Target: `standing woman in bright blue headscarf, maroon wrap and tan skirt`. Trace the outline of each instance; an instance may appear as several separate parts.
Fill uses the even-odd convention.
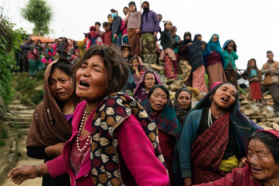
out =
[[[203,52],[203,58],[208,74],[208,87],[211,87],[212,83],[216,81],[227,81],[223,69],[224,55],[219,42],[219,35],[212,35]]]

